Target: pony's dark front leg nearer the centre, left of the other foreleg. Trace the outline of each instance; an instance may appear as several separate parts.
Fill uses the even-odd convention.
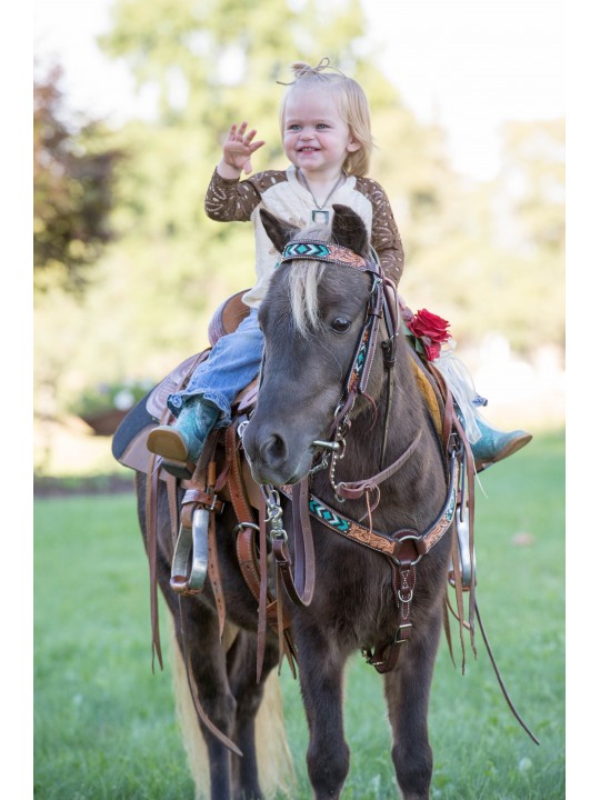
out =
[[[342,684],[347,653],[318,629],[296,636],[300,686],[309,726],[307,766],[316,800],[340,797],[350,768],[343,736]]]

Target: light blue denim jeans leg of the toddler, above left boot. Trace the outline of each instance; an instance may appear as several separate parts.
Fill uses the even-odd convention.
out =
[[[201,397],[222,412],[216,427],[230,424],[233,400],[259,373],[263,342],[258,309],[250,309],[238,329],[221,337],[208,358],[198,364],[186,390],[169,394],[169,409],[179,417],[183,406]]]

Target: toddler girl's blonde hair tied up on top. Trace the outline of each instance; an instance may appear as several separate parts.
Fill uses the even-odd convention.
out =
[[[369,101],[362,88],[352,78],[348,78],[334,67],[330,67],[328,58],[321,59],[317,67],[297,61],[290,69],[294,76],[293,80],[290,83],[278,81],[288,87],[279,108],[281,137],[284,133],[286,106],[290,94],[299,88],[327,89],[334,96],[340,116],[350,128],[350,134],[360,144],[356,152],[348,153],[343,162],[343,170],[348,174],[366,176],[369,171],[374,142],[371,133]]]

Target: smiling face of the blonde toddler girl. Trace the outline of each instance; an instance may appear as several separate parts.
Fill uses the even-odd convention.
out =
[[[307,178],[331,179],[360,148],[327,90],[297,89],[286,103],[283,149]]]

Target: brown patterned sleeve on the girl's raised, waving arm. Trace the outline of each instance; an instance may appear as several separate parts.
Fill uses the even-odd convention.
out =
[[[262,193],[282,180],[287,180],[286,173],[279,170],[257,172],[242,181],[221,178],[214,170],[204,198],[207,217],[218,222],[247,222]]]

